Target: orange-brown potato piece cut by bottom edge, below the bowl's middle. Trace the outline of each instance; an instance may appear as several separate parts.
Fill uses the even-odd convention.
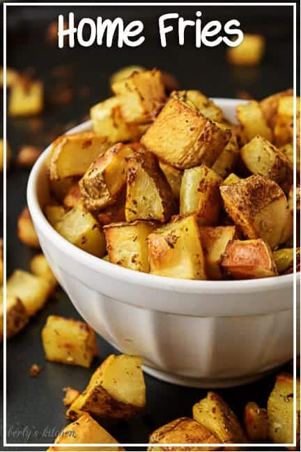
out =
[[[162,427],[157,428],[149,439],[148,451],[218,451],[219,448],[210,447],[172,447],[164,444],[218,444],[218,438],[200,423],[189,418],[179,418],[171,421]],[[152,446],[151,444],[162,444],[162,446]]]

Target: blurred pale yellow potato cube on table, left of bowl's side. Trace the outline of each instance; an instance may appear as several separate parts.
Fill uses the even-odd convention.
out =
[[[8,296],[17,296],[22,301],[30,317],[43,308],[53,289],[47,279],[23,270],[13,272],[6,288]]]

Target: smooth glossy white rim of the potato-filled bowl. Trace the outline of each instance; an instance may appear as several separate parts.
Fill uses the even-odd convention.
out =
[[[243,102],[238,99],[228,98],[215,98],[214,100],[222,108],[234,107],[238,103]],[[75,128],[68,130],[66,134],[91,130],[91,124],[92,121],[85,121]],[[54,227],[50,225],[38,202],[38,176],[45,166],[45,161],[50,152],[51,146],[52,144],[47,146],[31,169],[29,181],[27,183],[27,203],[33,223],[37,226],[37,229],[43,231],[49,241],[55,243],[56,247],[59,247],[63,253],[66,253],[77,262],[81,262],[94,271],[105,273],[111,278],[125,280],[127,283],[132,283],[134,285],[155,287],[167,291],[186,292],[191,294],[243,294],[245,292],[265,292],[270,289],[275,289],[275,287],[280,289],[293,285],[293,273],[270,278],[256,278],[252,280],[185,280],[180,278],[151,275],[149,273],[134,271],[132,269],[111,264],[100,257],[95,257],[94,255],[77,248],[77,246],[64,239],[63,236],[56,232]],[[299,272],[296,273],[296,280],[300,283]]]

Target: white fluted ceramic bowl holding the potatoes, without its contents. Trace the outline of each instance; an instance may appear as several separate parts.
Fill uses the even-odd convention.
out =
[[[238,101],[216,102],[234,121]],[[88,121],[70,132],[89,128]],[[187,386],[244,384],[291,359],[293,275],[180,280],[89,255],[63,239],[43,214],[49,197],[48,153],[49,147],[31,171],[29,210],[56,278],[100,336],[121,352],[142,356],[151,375]],[[300,287],[300,273],[297,280]]]

